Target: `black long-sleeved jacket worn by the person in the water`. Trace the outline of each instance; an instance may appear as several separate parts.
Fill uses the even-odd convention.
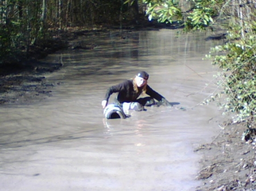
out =
[[[160,101],[164,98],[162,95],[158,94],[158,92],[154,91],[150,86],[146,85],[146,94],[153,97],[154,99]],[[133,79],[125,80],[124,82],[117,84],[116,86],[112,86],[108,89],[105,95],[104,100],[109,100],[110,95],[115,92],[118,92],[117,101],[119,103],[124,102],[133,102],[137,100],[139,95],[142,93],[142,88],[138,88],[138,92],[136,92],[133,88]]]

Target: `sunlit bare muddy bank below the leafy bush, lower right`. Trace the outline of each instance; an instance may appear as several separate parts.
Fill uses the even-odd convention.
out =
[[[196,148],[204,155],[198,176],[204,184],[197,191],[256,189],[256,139],[242,140],[246,129],[243,123],[224,122],[212,142]]]

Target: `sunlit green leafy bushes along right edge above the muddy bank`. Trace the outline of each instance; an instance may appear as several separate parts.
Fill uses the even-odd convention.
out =
[[[218,53],[213,57],[213,65],[223,70],[218,75],[222,91],[215,97],[225,97],[221,107],[224,114],[233,113],[233,122],[245,121],[250,128],[256,114],[256,15],[250,4],[232,2],[232,5],[236,6],[223,11],[229,18],[226,43],[212,48],[212,54]]]

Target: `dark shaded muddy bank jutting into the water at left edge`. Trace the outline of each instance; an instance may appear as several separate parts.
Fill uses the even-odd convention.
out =
[[[50,83],[44,76],[59,70],[63,66],[61,63],[35,61],[19,66],[5,67],[5,73],[0,77],[0,105],[26,104],[46,99],[51,96],[51,89],[61,84]]]

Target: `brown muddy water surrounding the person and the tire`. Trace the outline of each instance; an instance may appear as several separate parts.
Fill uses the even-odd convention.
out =
[[[48,56],[64,62],[46,74],[60,83],[52,97],[0,108],[1,190],[195,190],[201,156],[193,150],[216,135],[221,119],[214,104],[199,105],[216,88],[205,86],[216,69],[201,59],[214,42],[176,32],[123,32],[121,39],[112,31],[80,39],[92,50]],[[174,107],[106,120],[106,88],[139,70]]]

